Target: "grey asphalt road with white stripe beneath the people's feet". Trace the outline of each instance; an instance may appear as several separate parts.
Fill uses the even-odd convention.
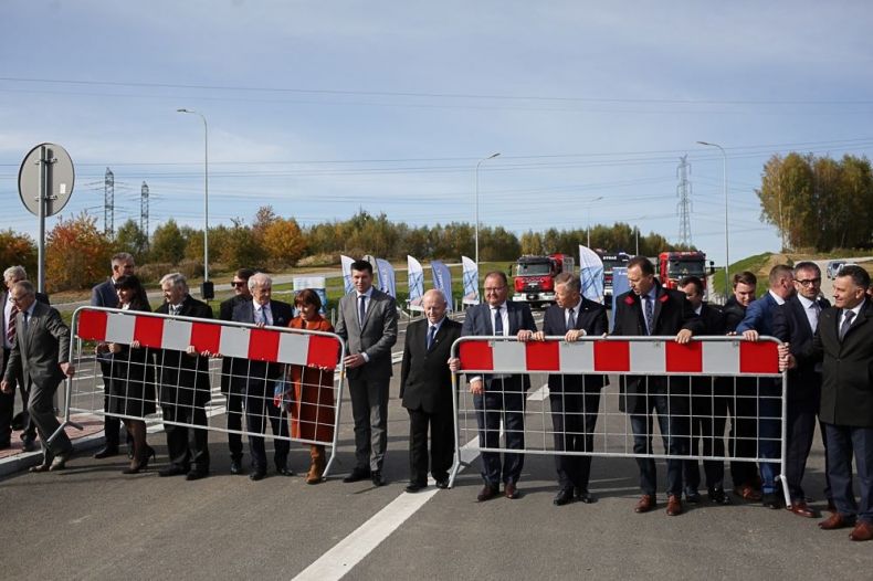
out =
[[[222,434],[210,439],[213,475],[193,483],[152,469],[125,476],[123,458],[88,455],[61,473],[9,476],[0,480],[2,577],[337,578],[307,569],[325,562],[347,579],[839,579],[870,570],[873,545],[850,542],[844,530],[820,531],[816,520],[786,510],[737,501],[690,507],[680,517],[662,508],[635,515],[632,459],[593,461],[592,505],[553,506],[554,465],[543,456],[527,458],[517,500],[477,504],[477,462],[454,489],[408,495],[407,413],[396,380],[391,390],[390,484],[381,488],[339,479],[354,464],[350,414],[335,476],[317,486],[301,477],[231,476]],[[160,466],[162,433],[149,441]],[[292,467],[304,472],[307,450],[292,451]],[[819,508],[822,469],[817,440],[804,486]],[[659,474],[663,480],[663,466]],[[401,510],[409,510],[406,520],[386,525]]]

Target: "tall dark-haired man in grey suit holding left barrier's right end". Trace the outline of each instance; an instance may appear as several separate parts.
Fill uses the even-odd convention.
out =
[[[372,266],[351,263],[355,290],[339,299],[336,332],[346,341],[344,361],[355,420],[355,469],[343,482],[371,478],[385,484],[382,462],[388,445],[388,385],[391,347],[397,342],[397,303],[372,286]]]

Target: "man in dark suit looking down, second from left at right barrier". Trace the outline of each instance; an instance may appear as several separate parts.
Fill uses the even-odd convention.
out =
[[[543,330],[534,339],[561,336],[575,342],[586,335],[599,337],[609,329],[607,308],[581,295],[581,282],[571,273],[555,277],[555,305],[543,319]],[[555,429],[555,451],[593,452],[595,426],[600,408],[600,391],[606,384],[603,376],[570,376],[551,373],[548,378],[551,424]],[[595,501],[588,490],[591,474],[591,456],[555,456],[558,471],[558,494],[553,503],[564,506],[579,499],[585,504]]]

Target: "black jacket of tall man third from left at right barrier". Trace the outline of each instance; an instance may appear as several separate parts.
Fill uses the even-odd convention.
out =
[[[645,318],[642,300],[633,292],[628,290],[616,299],[616,319],[612,335],[618,336],[645,336]],[[682,329],[688,329],[693,335],[702,335],[703,320],[694,314],[685,294],[671,290],[655,283],[655,306],[652,313],[652,336],[674,336]],[[666,392],[666,380],[663,377],[648,378],[649,394]],[[621,381],[619,409],[627,413],[645,413],[646,410],[646,378],[624,376]],[[681,410],[680,410],[681,411]]]

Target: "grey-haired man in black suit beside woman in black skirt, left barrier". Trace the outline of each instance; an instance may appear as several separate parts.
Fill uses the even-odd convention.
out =
[[[160,288],[165,303],[156,313],[212,319],[212,307],[188,294],[188,282],[180,273],[161,278]],[[161,349],[158,372],[164,431],[167,433],[167,453],[170,456],[170,465],[159,471],[158,475],[186,474],[188,480],[208,476],[209,442],[204,408],[211,398],[208,353],[198,353],[193,346],[189,346],[185,352]],[[202,427],[192,427],[194,425]]]

